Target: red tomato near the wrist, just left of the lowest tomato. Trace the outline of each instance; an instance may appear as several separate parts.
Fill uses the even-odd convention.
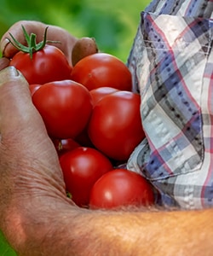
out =
[[[112,170],[111,161],[95,148],[75,148],[60,157],[66,190],[79,207],[87,207],[92,186]]]

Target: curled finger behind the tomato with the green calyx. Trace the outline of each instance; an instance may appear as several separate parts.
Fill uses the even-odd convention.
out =
[[[61,49],[66,55],[69,63],[72,63],[72,47],[78,39],[73,37],[69,32],[60,28],[59,26],[51,26],[39,21],[29,20],[20,20],[16,22],[13,26],[9,28],[9,31],[3,35],[0,43],[0,49],[3,52],[4,57],[12,58],[14,54],[18,51],[14,48],[12,44],[9,44],[9,33],[11,33],[14,38],[16,38],[21,44],[25,44],[25,39],[21,26],[25,26],[26,32],[28,32],[29,34],[32,32],[35,33],[37,35],[37,42],[43,41],[44,30],[47,26],[49,26],[47,39],[50,41],[59,41],[60,44],[52,45],[55,45],[56,47]]]

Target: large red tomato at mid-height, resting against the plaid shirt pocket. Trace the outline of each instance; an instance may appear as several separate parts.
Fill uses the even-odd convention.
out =
[[[141,96],[116,91],[97,102],[89,119],[91,142],[113,160],[127,160],[145,137],[140,114]]]

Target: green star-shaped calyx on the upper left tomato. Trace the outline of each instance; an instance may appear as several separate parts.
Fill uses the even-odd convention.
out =
[[[22,30],[23,30],[23,33],[24,33],[24,37],[26,39],[26,46],[24,44],[20,44],[20,42],[17,41],[11,33],[9,33],[9,35],[13,39],[13,41],[8,38],[9,43],[13,44],[16,49],[19,49],[22,52],[30,54],[31,59],[32,59],[32,54],[34,52],[37,52],[40,49],[43,49],[43,47],[47,43],[60,43],[59,41],[48,41],[47,40],[48,26],[45,28],[45,31],[44,31],[44,34],[43,34],[43,41],[39,42],[39,43],[36,42],[36,38],[37,38],[36,34],[34,34],[34,33],[28,34],[26,32],[26,29],[25,29],[24,26],[22,26]]]

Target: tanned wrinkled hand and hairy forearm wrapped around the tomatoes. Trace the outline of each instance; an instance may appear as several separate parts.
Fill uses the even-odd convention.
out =
[[[33,32],[44,27],[23,23]],[[21,38],[20,23],[10,32]],[[56,27],[53,35],[64,36],[61,47],[70,60],[72,36]],[[10,58],[15,50],[5,43],[6,37],[7,33],[1,49]],[[0,69],[9,65],[7,58],[0,59]],[[73,206],[26,79],[14,67],[0,72],[0,229],[17,255],[211,255],[212,213],[213,209],[89,211]]]

